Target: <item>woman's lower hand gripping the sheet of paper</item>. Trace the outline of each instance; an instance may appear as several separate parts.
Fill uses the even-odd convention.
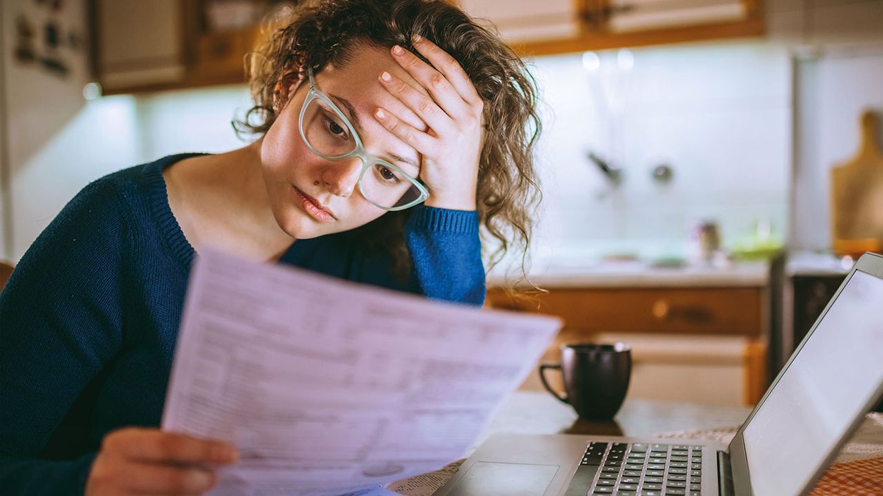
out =
[[[237,457],[222,441],[127,427],[102,440],[86,495],[202,494],[215,485],[215,467]]]

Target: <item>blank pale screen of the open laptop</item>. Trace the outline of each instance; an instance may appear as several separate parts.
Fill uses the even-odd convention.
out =
[[[754,494],[809,484],[883,381],[883,279],[854,271],[743,431]]]

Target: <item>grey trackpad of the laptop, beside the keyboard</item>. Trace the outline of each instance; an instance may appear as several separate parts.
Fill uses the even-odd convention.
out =
[[[558,465],[476,462],[449,496],[542,496]]]

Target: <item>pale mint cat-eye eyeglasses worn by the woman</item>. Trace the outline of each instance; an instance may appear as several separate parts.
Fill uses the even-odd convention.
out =
[[[310,91],[300,109],[300,136],[314,154],[329,161],[351,157],[362,160],[358,191],[370,203],[384,210],[404,210],[429,198],[426,186],[404,170],[369,154],[358,138],[350,120],[328,95],[316,88],[313,71],[306,71]]]

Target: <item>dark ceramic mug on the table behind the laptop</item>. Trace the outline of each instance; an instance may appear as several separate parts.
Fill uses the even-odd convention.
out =
[[[546,370],[562,372],[564,395],[546,380]],[[562,344],[561,364],[540,364],[540,380],[549,393],[577,410],[579,417],[610,420],[623,406],[631,378],[628,344]]]

